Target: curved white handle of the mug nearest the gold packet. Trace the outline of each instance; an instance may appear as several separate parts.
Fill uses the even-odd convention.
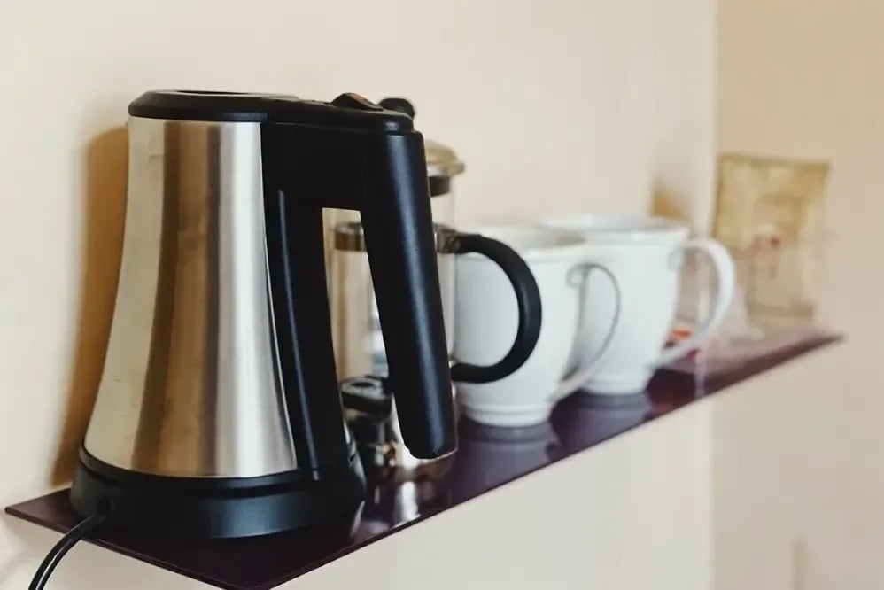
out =
[[[725,321],[727,310],[731,307],[731,302],[733,301],[733,283],[735,280],[733,258],[731,258],[731,254],[727,252],[725,246],[708,237],[698,237],[679,245],[679,248],[673,251],[672,254],[674,255],[690,251],[704,254],[715,271],[715,282],[717,286],[715,306],[712,307],[712,312],[709,314],[709,317],[707,317],[702,324],[694,330],[694,333],[690,338],[679,342],[677,345],[664,349],[663,353],[660,353],[660,357],[654,361],[654,367],[662,367],[663,365],[668,365],[672,361],[677,361],[687,353],[690,353],[702,345],[706,338],[709,338],[710,335],[718,329],[721,323]]]

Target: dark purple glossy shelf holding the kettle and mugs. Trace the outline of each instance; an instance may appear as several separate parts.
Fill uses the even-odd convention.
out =
[[[89,542],[213,586],[230,590],[272,588],[517,477],[840,339],[819,335],[712,377],[662,370],[647,392],[633,396],[610,398],[578,392],[560,402],[548,423],[530,428],[493,428],[461,419],[456,454],[409,477],[395,471],[374,474],[360,519],[343,530],[323,527],[213,541],[159,540],[108,532]],[[67,490],[16,504],[6,512],[58,532],[67,532],[79,521],[68,502]]]

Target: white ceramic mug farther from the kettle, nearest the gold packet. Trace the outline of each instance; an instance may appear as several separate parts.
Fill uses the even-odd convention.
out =
[[[589,358],[605,349],[603,358],[583,388],[597,393],[641,392],[655,369],[702,345],[725,320],[733,299],[733,259],[725,247],[708,238],[689,239],[689,229],[675,220],[643,216],[573,216],[545,221],[549,228],[577,231],[588,245],[589,260],[609,268],[622,296],[614,336],[603,342],[615,313],[615,291],[604,277],[591,276],[578,354]],[[685,252],[704,254],[715,275],[716,300],[709,316],[690,338],[664,348],[670,336],[679,298],[679,276]],[[602,334],[604,332],[602,331]]]

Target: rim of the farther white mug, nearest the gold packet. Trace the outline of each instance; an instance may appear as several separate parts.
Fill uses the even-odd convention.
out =
[[[587,242],[647,242],[690,234],[686,222],[660,215],[578,213],[547,217],[542,224],[577,232]]]

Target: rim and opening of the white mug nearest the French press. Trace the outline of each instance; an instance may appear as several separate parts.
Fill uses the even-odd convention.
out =
[[[547,234],[547,236],[555,236],[563,239],[562,244],[552,245],[525,245],[518,241],[508,239],[508,233],[532,233],[533,235]],[[479,224],[475,226],[459,229],[459,233],[478,234],[482,237],[488,237],[498,240],[508,245],[523,260],[537,262],[542,260],[562,260],[564,258],[582,257],[586,252],[586,238],[578,231],[569,229],[548,227],[537,223],[493,223]],[[501,235],[502,234],[502,235]],[[463,259],[486,260],[481,254],[469,252],[461,255]]]

